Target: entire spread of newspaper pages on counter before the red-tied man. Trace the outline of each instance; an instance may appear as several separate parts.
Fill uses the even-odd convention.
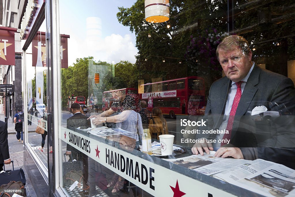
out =
[[[264,196],[295,196],[295,170],[263,159],[221,158],[214,153],[164,160]]]

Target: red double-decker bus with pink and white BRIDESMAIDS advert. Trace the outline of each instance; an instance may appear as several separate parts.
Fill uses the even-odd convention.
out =
[[[202,97],[197,101],[199,106],[205,106],[204,79],[197,76],[144,84],[144,93],[139,98],[148,103],[149,110],[158,107],[169,118],[176,118],[176,115],[189,115],[189,98],[196,91]]]

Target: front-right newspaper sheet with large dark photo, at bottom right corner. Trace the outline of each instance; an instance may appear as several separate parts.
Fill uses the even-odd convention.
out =
[[[249,161],[212,177],[264,196],[295,196],[295,170],[263,159]]]

